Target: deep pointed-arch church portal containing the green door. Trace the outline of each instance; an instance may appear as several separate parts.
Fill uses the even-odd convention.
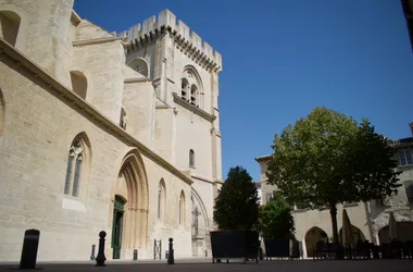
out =
[[[112,258],[132,259],[134,249],[147,249],[148,239],[148,182],[137,150],[123,159],[111,191]]]

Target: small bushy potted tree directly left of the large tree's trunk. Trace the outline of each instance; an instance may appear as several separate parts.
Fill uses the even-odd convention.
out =
[[[274,191],[274,197],[260,207],[256,230],[266,239],[293,238],[296,231],[290,205],[280,191]]]

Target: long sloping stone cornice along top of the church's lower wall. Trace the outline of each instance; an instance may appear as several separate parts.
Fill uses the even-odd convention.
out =
[[[142,154],[153,160],[154,162],[157,162],[159,165],[163,166],[164,169],[168,170],[171,173],[173,173],[175,176],[183,180],[185,183],[189,185],[193,183],[191,178],[189,178],[179,170],[177,170],[168,161],[166,161],[161,156],[159,156],[158,153],[149,149],[142,143],[138,141],[130,134],[125,132],[118,125],[116,125],[107,116],[104,116],[101,112],[99,112],[93,106],[86,102],[76,94],[67,89],[59,81],[57,81],[53,76],[51,76],[48,72],[46,72],[43,69],[38,66],[36,63],[29,60],[26,55],[20,52],[17,49],[15,49],[11,45],[9,45],[7,41],[4,41],[3,38],[0,38],[0,55],[2,54],[5,54],[7,57],[9,57],[11,61],[14,62],[16,65],[26,69],[30,73],[32,76],[41,79],[47,86],[49,86],[54,91],[57,91],[61,96],[61,97],[58,96],[59,99],[61,100],[66,99],[71,104],[78,107],[79,109],[84,111],[86,116],[90,118],[90,120],[92,120],[96,123],[99,123],[100,125],[102,125],[102,127],[108,129],[110,133],[116,135],[120,139],[123,139],[126,144],[137,147],[138,150]]]

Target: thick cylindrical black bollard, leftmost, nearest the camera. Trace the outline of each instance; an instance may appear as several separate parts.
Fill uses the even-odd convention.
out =
[[[39,247],[40,231],[27,230],[24,233],[20,269],[36,269],[37,249]]]

